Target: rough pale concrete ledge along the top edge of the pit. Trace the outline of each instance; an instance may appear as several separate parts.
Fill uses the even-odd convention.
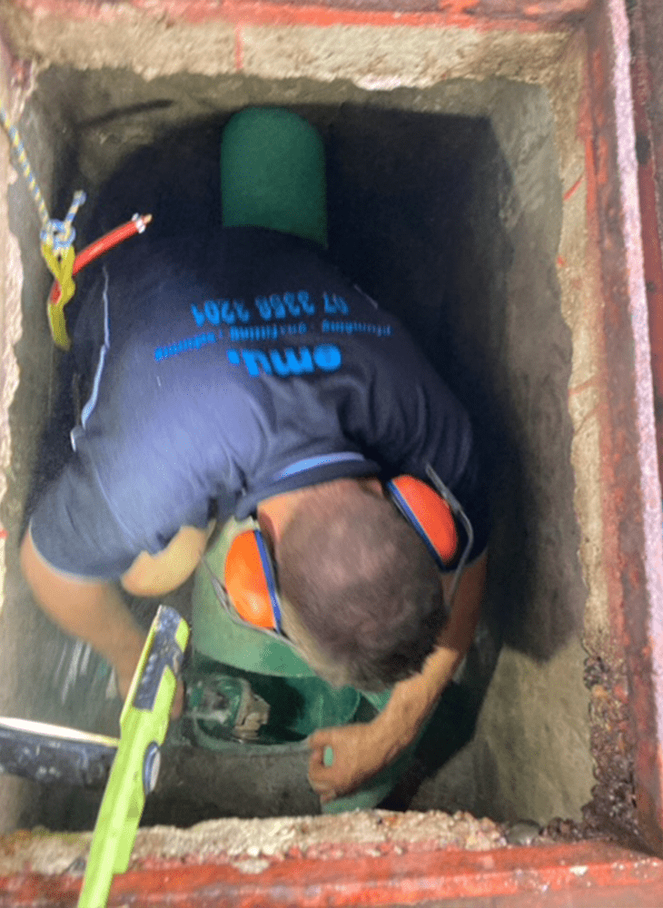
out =
[[[282,10],[237,21],[210,17],[197,24],[119,3],[104,15],[67,17],[47,7],[31,15],[11,0],[0,2],[5,41],[40,65],[79,69],[126,66],[147,79],[176,73],[219,75],[241,68],[263,78],[351,79],[369,89],[427,87],[442,79],[510,78],[539,82],[558,63],[566,31],[511,32],[433,25],[430,28],[282,22]],[[302,23],[303,20],[303,23]],[[302,23],[302,24],[300,24]]]

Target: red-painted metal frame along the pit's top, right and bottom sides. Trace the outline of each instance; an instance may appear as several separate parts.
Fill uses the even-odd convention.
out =
[[[238,0],[14,0],[38,15],[99,18],[123,6],[147,15],[242,24],[450,25],[515,28],[578,26],[588,42],[587,98],[580,128],[587,147],[588,220],[599,261],[608,400],[602,408],[602,463],[609,614],[615,652],[628,667],[629,712],[636,740],[639,817],[651,847],[663,854],[663,539],[649,367],[647,275],[657,388],[663,399],[663,264],[657,180],[663,174],[663,114],[652,118],[650,0],[633,17],[636,127],[654,153],[635,158],[624,0],[348,0],[341,6],[242,3]],[[652,3],[658,0],[651,0]],[[591,6],[591,9],[589,7]],[[354,7],[354,8],[353,8]],[[397,12],[394,12],[394,9]],[[589,9],[589,13],[588,13]],[[585,15],[587,14],[587,15]],[[638,18],[638,16],[640,16]],[[658,22],[658,20],[657,20]],[[638,31],[639,29],[639,31]],[[661,25],[663,30],[663,25]],[[651,35],[649,35],[651,37]],[[651,42],[649,42],[650,44]],[[654,45],[663,48],[663,35]],[[241,50],[241,48],[240,48]],[[649,56],[648,56],[649,54]],[[241,62],[241,54],[238,56]],[[656,119],[656,116],[659,116]],[[638,148],[642,151],[642,140]],[[660,183],[659,183],[660,184]],[[644,256],[638,212],[645,224]],[[658,218],[657,218],[658,214]],[[644,271],[643,271],[644,268]],[[660,332],[660,333],[659,333]],[[609,364],[609,365],[608,365]],[[659,431],[663,439],[663,429]],[[663,453],[663,447],[661,447]],[[663,457],[661,458],[663,463]],[[0,879],[0,905],[71,904],[80,882],[26,873]],[[110,904],[342,906],[354,904],[533,906],[663,905],[663,863],[608,844],[439,851],[271,861],[259,873],[236,864],[164,864],[135,869],[114,883]]]

